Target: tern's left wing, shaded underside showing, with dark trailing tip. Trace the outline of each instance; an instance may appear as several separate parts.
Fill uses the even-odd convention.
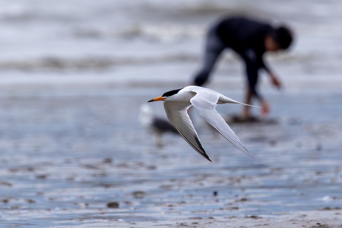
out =
[[[190,106],[191,105],[185,103],[164,102],[166,115],[172,125],[192,148],[194,148],[200,155],[211,161],[206,151],[203,149],[194,125],[187,113],[187,109]]]

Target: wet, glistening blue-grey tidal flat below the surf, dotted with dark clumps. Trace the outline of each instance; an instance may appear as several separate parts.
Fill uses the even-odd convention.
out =
[[[139,123],[167,85],[2,85],[0,227],[339,227],[342,94],[317,86],[266,89],[276,121],[231,124],[255,160],[195,116],[208,162],[177,135],[156,147]]]

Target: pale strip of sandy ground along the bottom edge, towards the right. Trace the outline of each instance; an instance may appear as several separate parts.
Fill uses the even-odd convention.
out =
[[[267,217],[267,216],[266,216]],[[301,211],[290,215],[281,215],[276,218],[264,218],[261,216],[246,216],[245,218],[215,218],[209,217],[202,219],[201,217],[190,217],[187,219],[176,219],[171,221],[153,221],[153,222],[122,222],[122,221],[106,221],[99,223],[89,223],[81,226],[70,226],[77,228],[91,227],[199,227],[199,228],[338,228],[342,227],[342,211],[341,209],[325,209],[320,211]]]

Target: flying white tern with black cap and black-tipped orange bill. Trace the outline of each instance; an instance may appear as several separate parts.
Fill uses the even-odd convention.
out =
[[[228,139],[229,142],[246,155],[254,158],[215,109],[217,104],[247,104],[237,102],[213,90],[194,85],[166,92],[162,96],[149,100],[148,102],[158,100],[164,101],[164,108],[168,119],[182,135],[185,141],[209,161],[211,160],[203,149],[194,125],[187,113],[187,109],[192,105],[197,109],[201,117],[212,125],[221,135],[223,135],[223,137]]]

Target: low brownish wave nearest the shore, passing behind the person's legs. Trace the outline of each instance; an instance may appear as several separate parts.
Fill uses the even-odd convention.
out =
[[[228,53],[227,53],[228,54]],[[222,56],[222,62],[226,64],[236,63],[237,55],[230,53]],[[320,61],[318,53],[284,53],[282,55],[270,55],[272,62],[282,64],[314,64]],[[199,62],[202,59],[201,54],[179,53],[166,54],[146,57],[118,57],[118,56],[89,56],[84,58],[67,58],[57,56],[47,56],[33,59],[18,59],[11,61],[0,61],[0,69],[20,69],[20,70],[90,70],[107,69],[110,67],[120,67],[126,65],[148,65],[168,62]]]

